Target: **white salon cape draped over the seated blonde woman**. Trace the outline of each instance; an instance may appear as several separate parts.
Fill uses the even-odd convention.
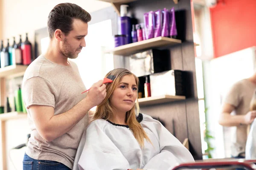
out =
[[[144,139],[142,148],[128,126],[98,119],[87,127],[73,170],[172,170],[179,163],[194,162],[189,150],[159,121],[141,113],[137,120],[153,145]]]

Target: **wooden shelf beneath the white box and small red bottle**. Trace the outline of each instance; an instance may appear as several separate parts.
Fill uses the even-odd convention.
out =
[[[185,96],[163,95],[163,96],[140,98],[140,99],[138,99],[138,101],[139,101],[140,106],[146,106],[146,105],[167,103],[167,102],[173,102],[173,101],[184,100],[184,99],[186,99]]]

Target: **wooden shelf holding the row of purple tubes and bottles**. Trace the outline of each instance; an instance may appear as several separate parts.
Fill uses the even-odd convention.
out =
[[[131,44],[122,45],[111,50],[105,51],[106,53],[112,53],[114,55],[129,55],[136,51],[144,50],[147,48],[161,47],[165,45],[180,44],[181,40],[168,38],[168,37],[156,37],[148,40],[134,42]]]

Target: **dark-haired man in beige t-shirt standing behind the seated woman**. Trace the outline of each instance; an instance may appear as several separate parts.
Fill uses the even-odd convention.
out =
[[[90,20],[87,11],[72,3],[58,4],[49,13],[49,48],[29,65],[22,84],[31,128],[23,170],[72,169],[88,111],[106,96],[102,80],[81,94],[85,87],[78,68],[68,60],[85,47]]]

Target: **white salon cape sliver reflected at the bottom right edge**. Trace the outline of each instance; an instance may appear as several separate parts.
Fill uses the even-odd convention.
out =
[[[250,133],[247,136],[245,159],[256,159],[256,119],[251,124]]]

